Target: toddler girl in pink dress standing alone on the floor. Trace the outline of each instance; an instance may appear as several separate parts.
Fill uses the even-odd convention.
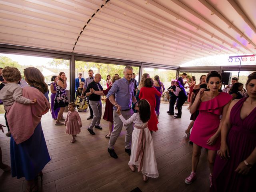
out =
[[[74,143],[76,141],[76,134],[80,133],[80,127],[82,127],[82,121],[80,118],[80,115],[75,110],[76,104],[70,103],[68,104],[68,115],[65,120],[64,125],[66,127],[66,133],[69,135],[72,135],[73,139],[71,143]]]

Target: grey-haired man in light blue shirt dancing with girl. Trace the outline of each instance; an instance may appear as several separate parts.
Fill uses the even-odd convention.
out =
[[[122,116],[127,120],[133,114],[132,102],[137,104],[137,100],[134,96],[134,83],[131,81],[133,69],[131,66],[126,66],[124,68],[124,78],[117,80],[112,85],[112,88],[107,94],[107,98],[114,105],[113,118],[114,118],[114,130],[111,133],[110,140],[108,143],[108,152],[111,157],[118,158],[116,152],[114,151],[114,144],[122,131],[123,122],[116,113],[116,109],[120,108]],[[115,96],[115,97],[114,97]],[[132,141],[132,131],[133,123],[125,125],[126,135],[125,135],[125,152],[131,155],[131,141]]]

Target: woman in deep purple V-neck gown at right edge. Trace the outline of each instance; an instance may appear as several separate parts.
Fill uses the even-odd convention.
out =
[[[221,127],[221,146],[211,192],[252,192],[256,181],[256,72],[246,82],[248,98],[234,100]]]

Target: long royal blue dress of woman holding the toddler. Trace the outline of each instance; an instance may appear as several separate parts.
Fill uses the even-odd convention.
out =
[[[44,94],[47,98],[48,94]],[[51,160],[41,122],[36,126],[34,134],[26,141],[16,144],[11,135],[10,155],[12,177],[33,180]]]

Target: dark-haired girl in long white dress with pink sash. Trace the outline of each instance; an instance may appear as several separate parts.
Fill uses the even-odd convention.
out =
[[[134,166],[136,166],[138,168],[138,172],[142,172],[143,180],[147,181],[148,177],[159,177],[153,140],[148,129],[150,104],[147,100],[141,99],[138,102],[136,110],[138,110],[138,113],[134,113],[128,120],[124,119],[120,108],[118,108],[116,112],[125,125],[134,122],[134,130],[132,132],[132,149],[128,164],[133,172],[135,171]]]

